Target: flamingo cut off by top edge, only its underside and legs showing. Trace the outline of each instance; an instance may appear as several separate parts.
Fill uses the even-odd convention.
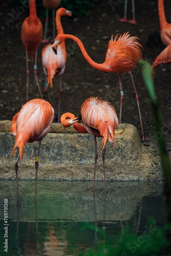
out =
[[[55,9],[60,5],[61,0],[42,0],[43,5],[46,8],[46,22],[45,22],[45,31],[44,31],[44,39],[42,42],[48,42],[47,39],[47,29],[48,29],[48,9],[52,9],[52,24],[53,24],[53,38],[51,41],[54,41],[55,38]]]

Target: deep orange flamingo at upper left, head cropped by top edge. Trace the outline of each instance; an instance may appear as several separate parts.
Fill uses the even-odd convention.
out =
[[[36,1],[30,0],[30,14],[29,17],[25,18],[22,24],[22,42],[26,49],[26,73],[27,73],[27,85],[26,85],[26,101],[28,101],[28,90],[29,90],[29,66],[28,66],[28,55],[31,53],[33,61],[33,51],[35,49],[35,62],[34,62],[34,76],[36,79],[37,87],[42,97],[40,86],[37,79],[37,50],[42,39],[42,24],[36,13]]]

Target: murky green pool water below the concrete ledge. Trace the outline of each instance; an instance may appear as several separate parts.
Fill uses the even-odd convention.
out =
[[[35,203],[35,182],[19,180],[17,207],[16,182],[0,181],[0,255],[82,255],[88,248],[115,244],[127,225],[142,238],[144,232],[153,235],[149,217],[158,227],[165,224],[162,183],[108,182],[106,195],[103,182],[96,182],[95,195],[92,185],[38,180]],[[5,236],[8,252],[3,248]]]

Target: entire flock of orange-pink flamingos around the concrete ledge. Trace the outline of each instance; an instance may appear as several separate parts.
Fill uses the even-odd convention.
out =
[[[57,118],[58,122],[64,127],[74,126],[75,130],[80,133],[89,133],[94,136],[95,143],[95,164],[94,164],[94,178],[93,178],[93,191],[95,190],[95,175],[96,175],[96,164],[98,158],[97,141],[96,138],[102,138],[100,149],[102,150],[102,161],[103,161],[103,172],[104,172],[104,187],[106,191],[106,178],[105,178],[105,144],[110,141],[115,147],[115,129],[119,128],[122,117],[122,104],[123,104],[123,86],[121,81],[121,73],[128,73],[131,76],[132,84],[135,90],[136,101],[138,105],[139,119],[141,125],[142,136],[141,141],[148,141],[148,138],[144,135],[142,116],[139,106],[139,96],[133,79],[132,71],[137,65],[138,61],[142,59],[142,45],[140,44],[140,38],[132,36],[129,32],[125,32],[121,35],[111,36],[106,51],[105,59],[102,63],[95,62],[87,53],[83,42],[72,34],[64,34],[61,25],[61,16],[71,16],[72,12],[66,8],[58,8],[62,1],[43,1],[46,8],[53,10],[53,44],[48,44],[42,49],[41,59],[42,67],[47,76],[44,92],[48,97],[46,101],[41,93],[39,82],[37,79],[37,54],[38,48],[41,42],[48,42],[47,40],[47,26],[48,26],[48,9],[46,10],[46,25],[44,32],[44,39],[42,39],[43,29],[40,19],[36,13],[36,1],[30,0],[30,14],[22,25],[22,42],[26,49],[26,103],[22,109],[16,113],[12,119],[11,134],[15,136],[15,144],[12,152],[12,156],[19,148],[19,154],[15,162],[15,173],[17,182],[17,204],[19,205],[19,192],[18,192],[18,161],[22,161],[25,144],[33,143],[38,141],[38,150],[35,160],[35,171],[36,171],[36,187],[35,187],[35,198],[37,188],[37,171],[40,154],[40,145],[42,139],[49,133],[51,124],[54,118]],[[125,12],[124,18],[120,19],[120,22],[126,22],[126,5],[125,1]],[[133,5],[133,19],[130,21],[132,24],[136,24],[135,21],[135,6]],[[56,16],[54,15],[54,9],[57,9]],[[171,24],[166,22],[164,14],[164,0],[158,0],[159,19],[160,19],[160,33],[163,44],[166,48],[156,57],[152,68],[156,68],[160,63],[171,62]],[[57,35],[55,37],[55,26]],[[75,116],[72,113],[64,113],[60,116],[60,102],[61,102],[61,75],[65,72],[67,52],[65,40],[72,39],[76,42],[81,50],[81,53],[89,63],[89,65],[97,70],[107,73],[117,73],[119,78],[120,86],[120,112],[119,119],[117,117],[114,106],[109,101],[101,100],[97,96],[90,96],[86,99],[80,110],[80,115]],[[34,75],[39,90],[40,98],[32,99],[28,101],[29,92],[29,68],[28,68],[28,56],[31,54],[33,60],[33,51],[35,50],[35,61],[34,61]],[[73,65],[74,69],[74,65]],[[53,87],[52,80],[55,76],[59,78],[59,102],[58,112],[55,110],[55,103],[52,102],[48,94],[48,87]],[[73,78],[74,79],[74,78]],[[81,122],[81,124],[79,123]]]

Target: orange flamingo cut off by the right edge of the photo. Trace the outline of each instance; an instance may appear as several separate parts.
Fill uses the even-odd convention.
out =
[[[156,68],[161,63],[171,62],[171,24],[167,23],[164,12],[164,0],[158,0],[158,13],[160,22],[160,36],[166,48],[156,57],[152,68]]]

